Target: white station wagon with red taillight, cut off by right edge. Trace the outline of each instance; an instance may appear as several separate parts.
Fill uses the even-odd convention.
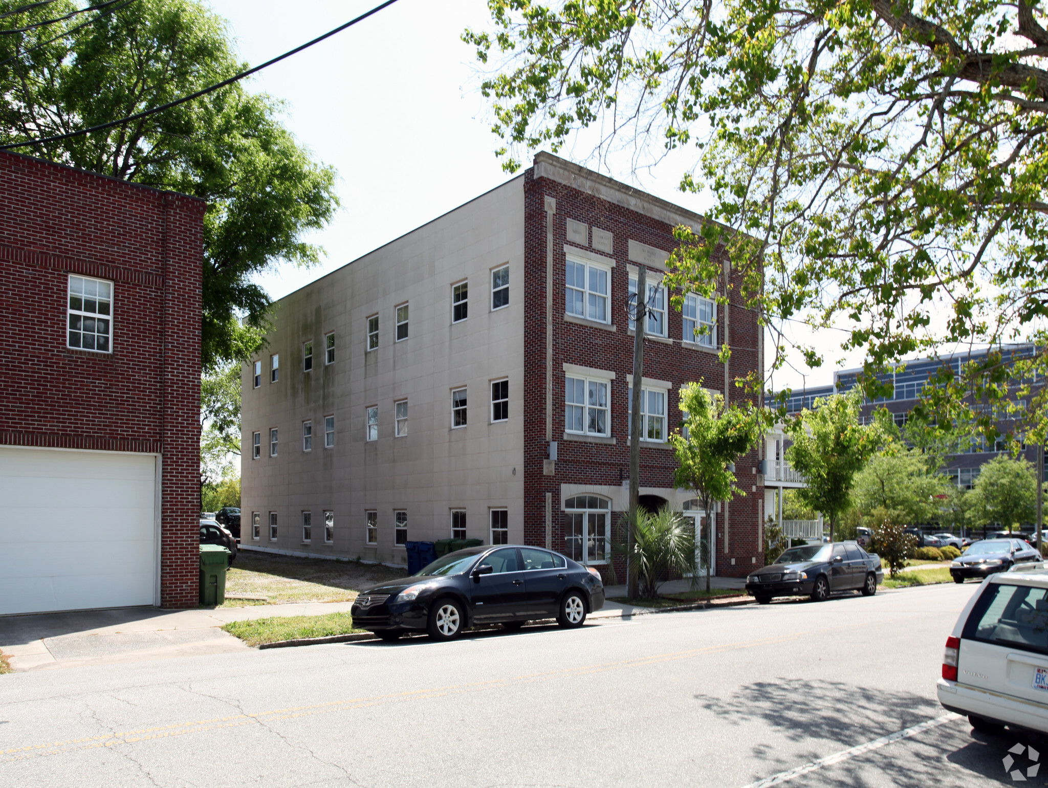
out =
[[[939,702],[967,715],[977,730],[1017,725],[1048,732],[1048,571],[1043,566],[987,577],[946,638]]]

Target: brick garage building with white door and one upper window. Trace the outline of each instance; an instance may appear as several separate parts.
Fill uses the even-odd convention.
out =
[[[0,613],[197,604],[202,201],[0,152]]]

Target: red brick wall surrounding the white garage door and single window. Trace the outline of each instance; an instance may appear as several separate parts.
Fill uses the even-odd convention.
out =
[[[205,205],[0,152],[0,444],[162,457],[163,607],[198,591]],[[69,273],[113,282],[112,352],[66,347]]]

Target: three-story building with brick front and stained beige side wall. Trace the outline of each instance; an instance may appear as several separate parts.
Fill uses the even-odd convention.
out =
[[[757,315],[660,285],[673,227],[702,217],[555,156],[278,302],[243,370],[248,548],[405,563],[403,542],[548,545],[607,564],[628,508],[633,330],[647,267],[641,503],[700,522],[667,441],[683,384],[741,391]],[[697,337],[705,323],[712,333]],[[732,346],[729,370],[717,356]],[[717,518],[718,574],[760,565],[763,445]]]

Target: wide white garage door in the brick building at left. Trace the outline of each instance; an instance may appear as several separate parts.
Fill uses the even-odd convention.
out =
[[[156,458],[0,446],[0,614],[153,605]]]

